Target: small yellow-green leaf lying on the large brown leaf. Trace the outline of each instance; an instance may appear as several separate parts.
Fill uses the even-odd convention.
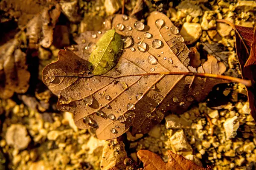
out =
[[[89,66],[94,75],[102,75],[113,68],[122,54],[121,35],[115,29],[108,30],[97,42],[96,49],[90,54]]]

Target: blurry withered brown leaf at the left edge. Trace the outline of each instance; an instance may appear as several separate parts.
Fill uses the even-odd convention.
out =
[[[29,88],[26,54],[18,48],[19,41],[11,40],[0,46],[0,98],[10,98],[15,92],[25,93]]]

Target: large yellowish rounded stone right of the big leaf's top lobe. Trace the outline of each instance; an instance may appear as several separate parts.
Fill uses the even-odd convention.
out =
[[[186,44],[192,44],[202,35],[202,28],[198,23],[184,23],[180,35],[184,38]]]

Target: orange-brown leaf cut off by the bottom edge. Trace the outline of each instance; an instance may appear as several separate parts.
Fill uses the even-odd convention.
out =
[[[199,167],[194,162],[170,150],[168,151],[169,160],[167,163],[149,150],[139,150],[137,156],[143,161],[144,170],[211,170],[210,167]]]

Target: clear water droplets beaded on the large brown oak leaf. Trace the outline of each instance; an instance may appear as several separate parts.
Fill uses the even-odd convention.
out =
[[[128,16],[127,15],[122,15],[122,19],[123,20],[128,20]],[[103,22],[103,24],[105,24],[105,22]],[[158,19],[158,20],[155,21],[155,25],[160,30],[165,25],[165,21],[163,19]],[[116,28],[119,31],[123,31],[125,29],[125,26],[122,23],[119,23],[119,24],[116,25]],[[134,29],[136,29],[137,31],[143,31],[144,28],[145,28],[145,25],[141,21],[137,20],[134,23]],[[168,26],[165,26],[164,28],[166,30],[169,29]],[[126,29],[128,31],[131,31],[133,28],[131,26],[127,26]],[[178,29],[175,26],[170,28],[170,31],[173,34],[178,34],[179,33]],[[128,32],[126,32],[126,33],[128,34]],[[102,32],[98,31],[98,34],[102,34]],[[170,36],[170,34],[168,34],[168,35]],[[152,34],[150,34],[149,32],[144,33],[144,38],[150,39],[151,37],[152,37]],[[92,34],[92,38],[97,38],[97,34]],[[183,42],[184,39],[182,37],[180,37],[180,38],[181,38],[181,41]],[[137,39],[140,40],[140,37],[137,37]],[[132,40],[132,38],[130,36],[124,37],[122,40],[123,40],[124,48],[129,48],[130,47],[131,51],[136,51],[136,49],[134,47],[131,47],[131,45],[133,45],[134,41]],[[174,40],[171,40],[171,41],[174,42]],[[149,46],[149,47],[151,47],[151,46]],[[163,47],[163,42],[161,40],[154,39],[152,41],[152,47],[153,48],[161,48],[161,47]],[[147,48],[147,44],[143,41],[140,41],[140,42],[138,42],[137,48],[138,48],[139,51],[145,52],[146,48]],[[161,52],[161,54],[163,54],[163,51]],[[160,54],[158,54],[157,57],[160,57]],[[167,58],[163,57],[163,59],[166,60]],[[148,63],[149,64],[156,65],[157,61],[158,61],[158,59],[156,57],[154,57],[153,55],[148,56]],[[167,61],[169,62],[169,64],[173,63],[172,58],[168,58]],[[157,67],[155,67],[155,68],[157,68]],[[155,70],[154,68],[150,69],[151,72],[153,72],[154,70]],[[136,94],[136,99],[139,100],[139,99],[142,98],[142,96],[143,96],[143,94]],[[111,100],[111,97],[109,95],[106,95],[105,99]],[[131,99],[131,97],[129,97],[129,99]],[[174,102],[178,101],[177,97],[175,97],[173,100],[174,100]],[[184,105],[184,102],[180,102],[180,106],[183,106],[183,105]],[[105,108],[108,108],[108,107],[109,107],[108,104],[105,105]],[[132,104],[130,102],[127,104],[126,108],[127,108],[127,110],[135,109],[134,104]],[[118,111],[116,111],[116,112],[118,113]],[[108,119],[111,119],[111,120],[117,120],[119,122],[125,122],[126,121],[126,117],[124,115],[119,116],[116,119],[116,117],[112,113],[109,114],[108,116],[106,116],[106,114],[104,112],[102,112],[101,110],[96,111],[96,115],[104,117],[104,118],[108,118]],[[89,117],[84,117],[84,123],[86,123],[88,125],[93,125],[93,122]],[[117,125],[115,127],[119,128],[119,126],[117,126]],[[111,128],[110,131],[111,131],[111,133],[117,133],[117,130],[115,128]]]

